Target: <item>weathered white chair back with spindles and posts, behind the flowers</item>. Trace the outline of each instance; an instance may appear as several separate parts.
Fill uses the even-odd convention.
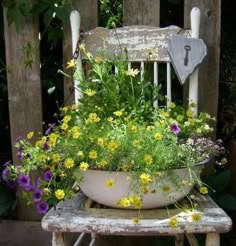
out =
[[[197,10],[198,11],[198,10]],[[80,43],[84,43],[86,50],[90,52],[94,57],[98,55],[99,50],[102,50],[104,55],[119,55],[124,50],[127,50],[129,67],[132,67],[132,63],[140,63],[140,76],[142,78],[144,74],[145,62],[147,60],[153,64],[153,83],[158,85],[159,75],[158,67],[160,63],[166,64],[166,97],[167,103],[172,100],[171,89],[171,59],[168,53],[168,42],[174,35],[182,35],[190,38],[198,37],[199,18],[196,19],[195,31],[182,30],[176,26],[169,26],[167,28],[157,28],[152,26],[126,26],[122,28],[106,29],[95,28],[80,36],[80,17],[77,11],[73,11],[71,14],[71,27],[72,27],[72,47],[73,53],[76,51],[78,40]],[[193,26],[193,25],[192,25]],[[197,34],[196,34],[197,32]],[[104,48],[105,47],[105,48]],[[185,54],[185,59],[188,54]],[[81,56],[78,57],[78,69],[82,69]],[[196,77],[196,76],[195,76]],[[189,99],[198,103],[197,99],[197,78],[194,79],[194,88],[191,89]],[[191,95],[192,94],[192,95]],[[80,95],[75,95],[77,101]],[[155,106],[158,105],[158,101],[155,102]]]

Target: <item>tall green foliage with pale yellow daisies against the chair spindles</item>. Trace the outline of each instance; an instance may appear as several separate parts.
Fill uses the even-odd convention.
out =
[[[89,83],[86,75],[76,74],[80,81],[78,89],[85,94],[98,92],[92,97],[81,98],[81,107],[86,107],[83,110],[87,111],[96,105],[103,110],[93,110],[102,117],[108,117],[116,110],[124,110],[137,116],[142,115],[147,120],[152,115],[153,102],[158,99],[160,89],[152,84],[148,73],[141,78],[138,69],[127,69],[128,54],[125,52],[120,57],[105,59],[102,52],[98,57],[93,57],[83,45],[80,48],[91,70]]]

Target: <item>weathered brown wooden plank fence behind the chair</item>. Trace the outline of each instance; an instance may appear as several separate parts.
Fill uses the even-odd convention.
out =
[[[124,25],[144,24],[159,26],[164,0],[124,0]],[[190,28],[190,11],[192,7],[201,10],[200,38],[208,48],[208,55],[199,69],[199,110],[204,110],[217,116],[219,56],[220,56],[220,15],[221,0],[185,0],[183,1],[184,28]],[[81,26],[84,31],[98,25],[97,0],[74,1],[74,8],[81,14]],[[26,68],[23,62],[22,47],[31,42],[33,47],[39,47],[38,19],[36,16],[23,20],[20,33],[14,26],[8,26],[4,13],[4,34],[6,46],[6,62],[8,67],[8,97],[10,133],[13,157],[15,156],[14,142],[17,136],[26,136],[29,131],[42,131],[42,100],[40,85],[40,54],[34,49],[34,63],[32,68]],[[172,23],[175,24],[175,23]],[[71,33],[70,27],[64,27],[63,59],[70,60]],[[187,87],[187,85],[185,86]],[[64,97],[67,98],[71,90],[71,81],[64,81]],[[186,90],[186,88],[184,88]],[[0,130],[1,131],[1,130]],[[14,158],[16,162],[16,159]],[[19,218],[34,220],[34,213],[25,209],[25,204],[19,204]]]

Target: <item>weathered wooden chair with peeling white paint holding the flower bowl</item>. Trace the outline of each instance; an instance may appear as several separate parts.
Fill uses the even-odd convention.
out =
[[[86,44],[86,49],[94,56],[99,49],[106,45],[106,53],[119,54],[121,49],[127,49],[129,57],[129,67],[133,63],[139,63],[141,76],[144,72],[144,64],[149,56],[153,64],[153,83],[159,83],[159,67],[164,64],[166,67],[166,95],[167,103],[172,101],[172,75],[171,62],[168,52],[168,43],[170,39],[180,34],[183,37],[198,38],[199,32],[199,10],[192,10],[192,30],[181,30],[176,26],[167,28],[157,28],[150,26],[126,26],[117,29],[96,28],[80,36],[80,17],[78,12],[73,11],[71,14],[72,25],[72,47],[73,54],[78,52],[77,44]],[[185,50],[183,50],[185,52]],[[188,54],[180,57],[180,62],[184,62]],[[182,59],[182,60],[181,60]],[[191,59],[190,59],[191,60]],[[174,66],[176,64],[173,64]],[[82,69],[82,57],[78,55],[77,69]],[[78,83],[75,81],[75,84]],[[75,102],[81,97],[80,93],[75,90]],[[198,104],[198,70],[190,76],[189,100]],[[158,106],[158,101],[155,102]],[[197,110],[195,111],[197,114]],[[91,233],[92,240],[90,246],[95,244],[98,234],[113,235],[173,235],[176,237],[175,245],[183,245],[183,235],[186,235],[191,245],[197,245],[193,233],[206,233],[206,245],[220,245],[220,233],[230,230],[231,220],[226,213],[220,209],[209,197],[202,197],[195,194],[198,200],[202,219],[194,224],[189,222],[189,214],[182,212],[183,223],[181,227],[170,228],[168,219],[165,217],[166,212],[163,209],[155,209],[143,212],[142,223],[134,225],[132,212],[116,209],[99,209],[99,208],[81,208],[77,209],[74,200],[65,201],[58,205],[57,210],[51,210],[42,220],[42,227],[45,230],[53,232],[53,245],[64,245],[64,232],[81,233],[74,245],[79,245],[85,233]],[[177,210],[171,213],[179,213]]]

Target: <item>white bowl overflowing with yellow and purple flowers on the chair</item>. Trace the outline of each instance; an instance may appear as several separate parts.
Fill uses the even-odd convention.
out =
[[[57,123],[35,143],[33,132],[19,138],[21,164],[7,165],[4,179],[17,182],[42,214],[78,187],[99,203],[133,209],[180,206],[194,184],[207,194],[199,174],[210,157],[224,151],[221,141],[206,137],[213,119],[203,112],[194,117],[192,104],[154,108],[160,88],[128,68],[126,55],[105,60],[80,49],[89,70],[86,76],[75,71],[83,95],[79,104],[61,108]],[[75,66],[74,60],[68,63]]]

